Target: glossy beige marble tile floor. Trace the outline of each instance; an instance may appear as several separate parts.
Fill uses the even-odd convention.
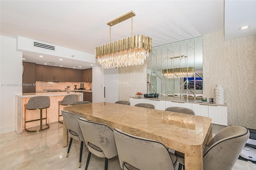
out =
[[[73,140],[68,158],[68,147],[62,146],[62,125],[50,124],[42,132],[9,132],[0,134],[1,170],[83,170],[86,165],[88,149],[83,147],[82,166],[79,164],[80,142]],[[176,167],[176,169],[178,166]],[[92,154],[88,170],[103,170],[104,158]],[[233,170],[256,169],[252,162],[237,160]],[[118,156],[108,162],[108,170],[121,170]]]

